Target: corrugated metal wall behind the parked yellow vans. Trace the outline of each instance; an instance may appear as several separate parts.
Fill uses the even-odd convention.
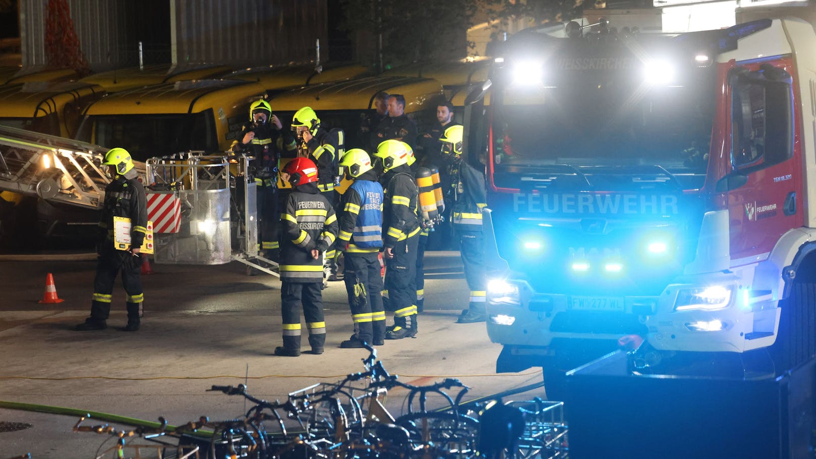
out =
[[[47,64],[47,4],[20,0],[23,65]],[[145,34],[145,63],[171,62],[173,56],[181,64],[312,60],[317,38],[326,60],[326,0],[69,0],[69,6],[82,52],[95,71],[138,65],[138,42]]]

